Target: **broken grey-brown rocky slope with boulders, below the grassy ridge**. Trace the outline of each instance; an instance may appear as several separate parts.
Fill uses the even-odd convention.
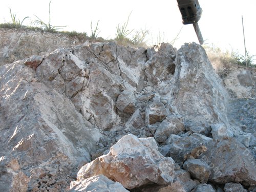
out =
[[[0,191],[256,190],[255,70],[0,33]]]

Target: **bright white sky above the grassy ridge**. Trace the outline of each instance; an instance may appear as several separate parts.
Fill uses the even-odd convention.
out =
[[[11,22],[9,8],[16,18],[26,19],[25,25],[34,25],[38,16],[45,23],[49,21],[49,2],[42,0],[0,0],[0,23]],[[255,0],[199,0],[203,9],[199,27],[208,46],[244,54],[242,15],[244,19],[246,49],[249,55],[256,55]],[[51,24],[67,26],[65,31],[87,32],[91,34],[97,21],[99,34],[105,39],[115,38],[116,27],[123,25],[131,13],[127,29],[148,30],[147,44],[171,42],[180,48],[185,42],[197,42],[193,25],[183,25],[176,0],[52,0]],[[131,36],[132,37],[132,34]],[[255,58],[255,57],[254,57]]]

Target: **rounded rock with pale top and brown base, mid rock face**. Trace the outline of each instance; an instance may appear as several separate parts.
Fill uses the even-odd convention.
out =
[[[135,96],[134,93],[125,90],[117,98],[116,107],[123,113],[134,113],[135,112]]]

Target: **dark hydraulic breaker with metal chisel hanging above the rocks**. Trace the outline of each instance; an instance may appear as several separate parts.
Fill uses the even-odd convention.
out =
[[[203,10],[198,0],[177,0],[177,2],[182,17],[182,23],[184,25],[193,24],[200,44],[204,44],[204,39],[198,25]]]

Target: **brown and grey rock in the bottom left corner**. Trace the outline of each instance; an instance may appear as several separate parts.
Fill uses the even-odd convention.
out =
[[[0,191],[21,191],[28,190],[30,179],[20,169],[16,159],[5,156],[0,158]]]

